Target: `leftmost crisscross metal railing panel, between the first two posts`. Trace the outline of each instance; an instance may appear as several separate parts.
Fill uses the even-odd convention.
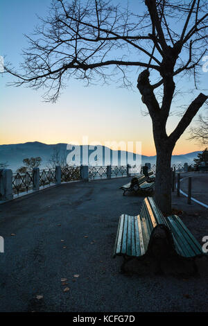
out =
[[[12,191],[19,195],[20,192],[33,189],[33,172],[13,173]]]

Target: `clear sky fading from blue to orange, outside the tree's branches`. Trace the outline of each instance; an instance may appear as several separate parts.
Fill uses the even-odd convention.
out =
[[[135,0],[132,0],[135,1]],[[14,67],[22,61],[21,49],[26,48],[24,34],[33,33],[38,24],[37,15],[45,17],[50,0],[1,0],[0,1],[0,55]],[[207,75],[206,75],[207,74]],[[206,76],[205,76],[206,75]],[[202,76],[207,83],[208,72]],[[155,155],[152,123],[141,102],[136,74],[135,89],[119,88],[116,84],[85,87],[80,80],[69,80],[56,103],[46,103],[42,90],[27,87],[6,86],[14,80],[0,74],[1,119],[0,144],[18,144],[41,141],[46,144],[82,143],[83,136],[89,142],[105,144],[105,141],[141,141],[143,155]],[[181,87],[183,80],[179,82]],[[173,103],[175,108],[189,103],[191,94]],[[177,125],[179,117],[168,119],[167,131]],[[173,154],[198,151],[201,148],[189,141],[189,134],[177,141]]]

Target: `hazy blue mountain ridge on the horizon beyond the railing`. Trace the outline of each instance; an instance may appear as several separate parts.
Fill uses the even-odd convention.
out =
[[[86,149],[87,145],[84,146]],[[110,150],[105,146],[96,146],[100,151],[103,151],[103,157],[105,156],[105,151],[110,151],[110,156],[112,157],[115,151]],[[95,149],[96,149],[95,148]],[[10,145],[0,145],[0,163],[7,162],[8,169],[12,169],[12,171],[16,171],[20,166],[23,166],[22,160],[26,157],[42,157],[42,164],[40,169],[44,169],[48,166],[48,162],[53,155],[54,151],[60,151],[61,155],[67,157],[70,153],[67,150],[67,144],[60,143],[60,144],[43,144],[39,141],[27,142],[24,144],[10,144]],[[82,151],[81,151],[82,152]],[[89,151],[89,154],[93,153],[94,151]],[[202,153],[201,151],[196,151],[192,153],[187,153],[183,155],[173,155],[172,157],[172,164],[184,164],[187,162],[188,164],[193,163],[193,159],[197,157],[198,153]],[[121,163],[122,155],[126,155],[126,152],[119,151],[119,160],[118,164]],[[140,155],[133,154],[134,160],[139,158]],[[81,155],[80,161],[82,162],[83,157]],[[156,163],[156,155],[155,156],[146,156],[141,155],[141,163],[144,164],[149,162],[151,164]],[[99,164],[98,164],[99,165]]]

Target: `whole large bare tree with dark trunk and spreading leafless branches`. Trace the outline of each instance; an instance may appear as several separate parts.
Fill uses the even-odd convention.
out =
[[[193,78],[198,87],[207,51],[207,9],[207,0],[146,0],[138,13],[107,0],[54,0],[49,17],[41,19],[33,37],[27,36],[23,73],[10,66],[6,71],[19,78],[15,85],[44,87],[46,101],[53,102],[69,78],[87,84],[120,78],[130,87],[129,69],[140,68],[137,88],[153,121],[157,151],[155,200],[162,212],[170,213],[173,148],[207,95],[198,92],[170,135],[166,122],[178,76],[184,83],[185,77]]]

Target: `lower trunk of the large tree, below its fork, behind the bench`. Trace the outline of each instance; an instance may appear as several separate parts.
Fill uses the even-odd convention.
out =
[[[155,202],[163,214],[171,214],[171,146],[157,149]]]

